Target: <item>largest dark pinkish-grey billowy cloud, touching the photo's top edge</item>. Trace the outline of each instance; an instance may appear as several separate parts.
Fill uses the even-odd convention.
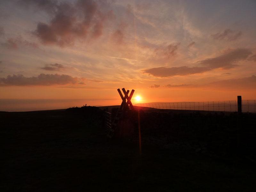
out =
[[[28,2],[44,11],[47,7],[53,7],[48,11],[50,22],[39,22],[34,31],[43,44],[67,46],[73,45],[76,39],[85,39],[88,35],[98,38],[102,35],[104,22],[114,18],[112,10],[102,12],[100,2],[93,0],[77,0],[74,3],[49,0]]]

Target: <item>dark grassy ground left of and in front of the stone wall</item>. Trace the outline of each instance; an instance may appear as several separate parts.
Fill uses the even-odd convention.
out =
[[[98,109],[0,113],[0,191],[255,191],[253,162],[109,141]]]

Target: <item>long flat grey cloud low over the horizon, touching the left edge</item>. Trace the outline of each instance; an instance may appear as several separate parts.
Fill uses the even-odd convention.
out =
[[[0,86],[29,86],[29,85],[65,85],[77,84],[80,79],[69,75],[44,74],[37,77],[25,77],[23,75],[8,75],[6,78],[0,78]]]

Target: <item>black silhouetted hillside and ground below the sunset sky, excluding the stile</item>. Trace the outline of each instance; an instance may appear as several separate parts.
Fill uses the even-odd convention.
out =
[[[237,132],[236,112],[137,108],[108,139],[104,114],[117,108],[101,108],[1,112],[1,190],[255,189],[255,114]]]

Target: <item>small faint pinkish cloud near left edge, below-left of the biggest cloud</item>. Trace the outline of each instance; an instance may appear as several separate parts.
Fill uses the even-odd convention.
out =
[[[6,43],[4,43],[4,45],[8,48],[8,49],[12,49],[12,50],[17,50],[19,49],[20,45],[23,46],[28,46],[28,47],[33,47],[33,48],[38,48],[38,45],[36,43],[33,42],[29,42],[27,40],[24,40],[22,37],[16,37],[14,38],[9,38],[7,40]]]

